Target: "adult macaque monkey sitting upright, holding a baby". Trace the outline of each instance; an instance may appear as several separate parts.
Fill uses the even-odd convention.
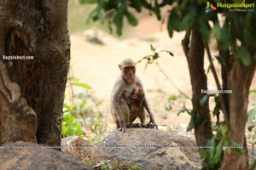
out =
[[[157,128],[157,125],[155,124],[154,121],[154,116],[149,109],[148,101],[145,98],[145,94],[143,92],[143,84],[140,81],[140,79],[136,76],[135,62],[132,59],[124,59],[119,64],[119,70],[121,71],[121,74],[117,78],[113,86],[111,97],[111,113],[113,115],[114,122],[119,128],[119,131],[125,132],[126,127],[135,127],[131,123],[137,118],[137,116],[139,116],[141,123],[144,123],[144,108],[146,109],[146,111],[148,111],[150,118],[148,127],[150,127],[149,125],[153,125],[153,127]],[[136,103],[137,100],[132,100],[132,93],[137,93],[137,90],[139,90],[139,92],[143,92],[143,101],[139,103]],[[137,95],[137,97],[139,96],[140,95]],[[135,96],[133,95],[133,97]],[[140,105],[140,108],[137,109],[136,105],[130,105],[130,110],[129,102],[127,101],[127,99],[131,99],[131,103],[135,102],[135,104]]]

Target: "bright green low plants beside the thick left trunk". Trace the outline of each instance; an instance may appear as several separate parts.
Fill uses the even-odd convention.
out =
[[[69,98],[64,103],[64,115],[62,122],[62,135],[80,135],[95,137],[104,131],[102,124],[102,112],[92,109],[100,105],[90,92],[92,89],[90,85],[80,82],[79,78],[74,77],[72,66],[70,66],[68,80],[67,80],[67,92]],[[84,92],[74,93],[74,87],[83,89]],[[79,120],[83,120],[79,122]],[[83,125],[83,126],[82,126]],[[86,126],[90,127],[90,131],[86,129]],[[83,128],[86,130],[84,133]]]

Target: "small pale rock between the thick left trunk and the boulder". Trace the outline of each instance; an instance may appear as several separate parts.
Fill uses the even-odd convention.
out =
[[[61,139],[61,151],[69,156],[80,161],[88,161],[92,150],[95,149],[90,144],[89,139],[81,139],[78,136],[68,136]]]

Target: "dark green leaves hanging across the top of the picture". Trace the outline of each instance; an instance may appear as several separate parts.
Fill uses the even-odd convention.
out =
[[[215,1],[212,2],[215,3]],[[166,19],[160,14],[160,9],[172,5],[167,12],[169,14],[167,30],[170,37],[173,31],[189,31],[197,27],[207,42],[212,35],[218,40],[218,48],[230,48],[232,54],[236,54],[236,59],[243,65],[250,64],[249,51],[256,47],[255,44],[252,45],[253,35],[256,32],[252,26],[252,23],[256,21],[256,14],[253,12],[230,13],[227,10],[218,9],[217,12],[221,12],[224,18],[224,25],[221,26],[217,13],[206,14],[205,1],[81,0],[80,3],[96,3],[96,8],[89,15],[89,20],[100,20],[103,23],[107,19],[110,30],[114,25],[118,35],[122,34],[125,19],[131,26],[137,26],[137,18],[131,11],[140,13],[143,8],[146,8],[155,14],[158,20],[165,21]],[[210,22],[213,26],[209,25]]]

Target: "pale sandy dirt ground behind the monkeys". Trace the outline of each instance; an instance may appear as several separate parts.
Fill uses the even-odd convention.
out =
[[[71,57],[74,63],[73,71],[81,82],[86,82],[93,87],[94,94],[98,99],[102,99],[102,105],[99,109],[104,114],[104,122],[108,123],[109,129],[114,129],[113,119],[109,110],[110,94],[113,83],[119,75],[119,62],[125,57],[131,57],[138,60],[148,54],[150,44],[160,49],[172,51],[174,57],[162,53],[159,64],[172,83],[183,91],[184,94],[191,96],[191,86],[189,81],[189,70],[186,58],[183,54],[181,40],[184,32],[175,32],[170,38],[166,31],[160,31],[160,23],[154,17],[148,17],[140,21],[137,27],[129,27],[124,37],[116,38],[108,33],[97,31],[98,37],[104,45],[99,45],[87,41],[87,37],[94,35],[93,30],[87,30],[71,35]],[[212,47],[213,48],[213,47]],[[217,54],[212,50],[212,56]],[[205,69],[207,71],[208,61],[206,58]],[[219,73],[219,68],[217,68]],[[191,133],[186,133],[186,127],[189,124],[189,115],[183,113],[177,116],[177,112],[183,104],[191,109],[191,102],[181,95],[177,88],[172,86],[166,77],[162,74],[157,65],[148,65],[145,69],[145,62],[137,65],[137,75],[143,81],[149,105],[151,106],[156,122],[159,125],[171,127],[172,131],[183,133],[191,137]],[[208,88],[216,89],[212,73],[207,74]],[[253,88],[256,87],[256,78],[254,77]],[[173,103],[172,111],[166,111],[168,98],[176,95],[177,100]],[[254,95],[254,96],[253,96]],[[255,107],[256,96],[250,96],[249,108]],[[211,110],[214,104],[211,102]]]

